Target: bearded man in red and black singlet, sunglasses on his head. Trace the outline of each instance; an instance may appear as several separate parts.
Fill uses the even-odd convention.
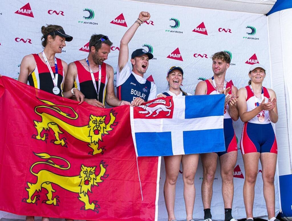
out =
[[[93,34],[89,41],[88,57],[68,65],[64,91],[74,94],[74,88],[83,91],[84,101],[93,106],[105,108],[131,105],[120,101],[114,95],[114,69],[104,63],[110,52],[112,42],[103,34]]]

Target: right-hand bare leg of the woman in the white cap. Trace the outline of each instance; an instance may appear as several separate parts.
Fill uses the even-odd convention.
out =
[[[276,172],[277,154],[261,153],[262,176],[264,183],[264,197],[267,206],[268,219],[275,216],[275,186],[274,177]]]

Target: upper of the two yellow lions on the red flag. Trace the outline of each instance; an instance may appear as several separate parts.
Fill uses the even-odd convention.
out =
[[[54,136],[56,138],[55,140],[51,140],[51,142],[57,145],[61,144],[62,146],[67,147],[66,138],[60,139],[59,137],[60,134],[63,133],[59,128],[60,126],[69,134],[71,134],[73,137],[81,141],[87,142],[88,146],[93,150],[89,152],[89,154],[94,155],[97,153],[103,153],[104,147],[99,147],[98,141],[102,141],[102,137],[105,134],[109,134],[108,133],[109,131],[113,130],[112,126],[117,125],[117,122],[115,122],[117,113],[111,110],[110,119],[107,124],[105,123],[106,115],[94,116],[91,114],[88,125],[78,127],[59,119],[58,117],[52,115],[50,111],[48,111],[48,113],[44,112],[44,108],[45,108],[45,110],[48,110],[48,109],[53,110],[69,120],[76,120],[78,118],[78,114],[74,111],[72,107],[64,106],[64,105],[56,105],[52,103],[51,101],[46,101],[46,100],[41,100],[41,99],[39,100],[49,106],[41,105],[41,106],[36,106],[34,108],[34,112],[40,115],[42,120],[41,121],[34,120],[34,127],[36,128],[38,134],[32,135],[32,138],[46,141],[46,139],[48,138],[48,134],[44,133],[41,136],[41,132],[43,130],[51,129],[53,130]],[[73,114],[65,113],[59,107],[69,108],[73,112]]]

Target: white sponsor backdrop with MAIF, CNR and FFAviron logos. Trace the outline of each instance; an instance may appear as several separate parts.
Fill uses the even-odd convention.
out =
[[[129,43],[129,51],[131,54],[137,48],[144,48],[153,53],[154,58],[149,62],[145,77],[153,79],[158,93],[167,90],[166,74],[170,66],[175,65],[184,70],[182,89],[194,94],[194,89],[200,80],[212,77],[210,57],[217,51],[227,51],[232,57],[226,79],[232,80],[237,88],[247,85],[248,69],[254,63],[265,65],[267,74],[264,86],[271,87],[268,28],[265,15],[122,0],[30,0],[29,2],[2,0],[0,3],[0,73],[18,79],[22,58],[27,54],[39,53],[42,50],[41,26],[46,24],[61,25],[67,34],[73,36],[72,42],[66,42],[67,46],[63,48],[62,53],[57,54],[57,57],[67,63],[87,57],[88,42],[92,34],[107,35],[114,44],[106,63],[112,65],[116,72],[120,40],[138,18],[140,11],[150,12],[151,18],[138,28]],[[234,122],[239,141],[242,126],[243,123],[240,120]],[[195,177],[197,194],[194,219],[204,217],[200,191],[202,174],[201,162],[199,162]],[[232,210],[233,216],[237,219],[246,217],[242,194],[244,177],[244,165],[239,150],[234,169]],[[162,163],[159,183],[159,220],[167,220],[163,196],[164,180],[165,169]],[[277,179],[275,180],[276,212],[278,213],[278,182]],[[214,220],[224,220],[221,183],[218,164],[211,204]],[[255,190],[253,215],[265,217],[267,211],[260,165]],[[175,214],[178,220],[185,219],[181,174],[176,187]],[[3,217],[4,213],[0,215]]]

